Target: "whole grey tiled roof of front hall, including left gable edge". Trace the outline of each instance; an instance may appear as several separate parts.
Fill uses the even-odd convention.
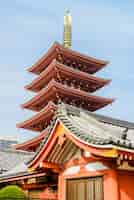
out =
[[[50,144],[52,130],[57,122],[62,123],[70,132],[73,140],[83,145],[99,149],[114,148],[134,153],[134,123],[104,117],[65,104],[58,106],[54,121],[48,137],[42,141],[35,157],[29,162],[29,167],[40,158],[43,152],[47,151],[47,144]]]

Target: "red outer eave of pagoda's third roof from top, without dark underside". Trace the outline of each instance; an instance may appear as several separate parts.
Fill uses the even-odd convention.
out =
[[[68,97],[69,97],[69,95],[71,95],[73,97],[76,97],[76,98],[78,97],[83,100],[86,98],[87,101],[90,100],[90,102],[93,101],[94,103],[97,103],[97,104],[100,103],[102,105],[100,107],[104,107],[105,105],[111,104],[114,101],[114,99],[90,95],[85,91],[81,91],[79,89],[75,89],[75,88],[71,88],[71,87],[62,85],[52,79],[46,88],[42,89],[31,100],[22,104],[22,108],[39,111],[40,109],[34,108],[33,105],[36,105],[36,104],[39,105],[39,101],[41,102],[43,99],[46,99],[48,96],[50,97],[50,95],[56,95],[57,93],[60,93],[63,96],[68,94]]]

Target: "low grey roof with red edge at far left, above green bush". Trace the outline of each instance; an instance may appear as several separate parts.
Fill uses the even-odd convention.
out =
[[[27,162],[32,152],[4,149],[0,151],[0,183],[44,176],[45,173],[29,172]]]

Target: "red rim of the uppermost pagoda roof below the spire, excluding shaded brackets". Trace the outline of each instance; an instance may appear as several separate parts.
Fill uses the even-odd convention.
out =
[[[81,53],[73,51],[71,49],[65,48],[63,45],[55,42],[48,52],[39,59],[32,67],[28,69],[29,72],[40,74],[51,62],[57,57],[57,55],[63,55],[72,60],[77,60],[80,63],[84,63],[89,66],[89,72],[95,73],[96,71],[102,69],[108,64],[107,61],[99,60],[89,56],[85,56]]]

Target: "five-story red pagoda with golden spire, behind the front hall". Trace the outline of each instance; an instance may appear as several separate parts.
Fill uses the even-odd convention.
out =
[[[108,62],[73,51],[71,32],[71,15],[67,11],[64,16],[63,45],[55,42],[48,52],[28,69],[38,76],[25,88],[37,94],[24,103],[22,108],[36,111],[36,114],[17,124],[17,127],[37,131],[39,135],[16,145],[16,149],[36,151],[46,137],[57,106],[61,102],[91,112],[113,102],[113,99],[93,95],[93,92],[110,82],[94,76]]]

